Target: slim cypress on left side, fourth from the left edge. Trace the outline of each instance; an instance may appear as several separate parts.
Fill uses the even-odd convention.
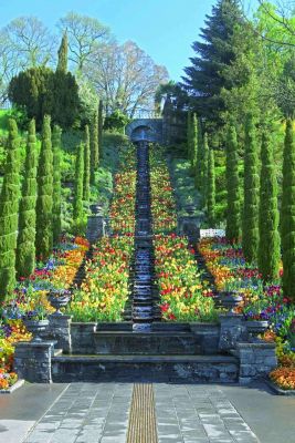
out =
[[[52,208],[52,231],[53,244],[56,245],[62,233],[62,184],[61,184],[61,137],[62,130],[53,127],[52,151],[53,151],[53,208]]]

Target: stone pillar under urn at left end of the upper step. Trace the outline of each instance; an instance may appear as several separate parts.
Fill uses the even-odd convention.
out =
[[[62,349],[63,352],[71,352],[71,316],[61,316],[52,313],[49,317],[50,336],[56,341],[56,349]]]

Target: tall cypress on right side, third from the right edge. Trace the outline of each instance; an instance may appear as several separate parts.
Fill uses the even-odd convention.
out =
[[[242,245],[246,261],[257,259],[259,202],[260,202],[259,153],[253,116],[245,121],[244,146],[244,208]]]

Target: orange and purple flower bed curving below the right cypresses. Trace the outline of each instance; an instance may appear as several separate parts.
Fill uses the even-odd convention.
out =
[[[295,307],[284,296],[280,281],[263,285],[254,267],[249,266],[239,245],[229,245],[224,238],[207,238],[199,250],[219,290],[243,296],[238,312],[249,320],[267,320],[270,330],[265,340],[276,342],[280,367],[270,377],[283,389],[295,389]]]

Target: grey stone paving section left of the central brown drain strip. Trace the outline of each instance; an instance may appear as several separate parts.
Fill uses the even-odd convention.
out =
[[[24,443],[125,443],[133,384],[73,383]]]

